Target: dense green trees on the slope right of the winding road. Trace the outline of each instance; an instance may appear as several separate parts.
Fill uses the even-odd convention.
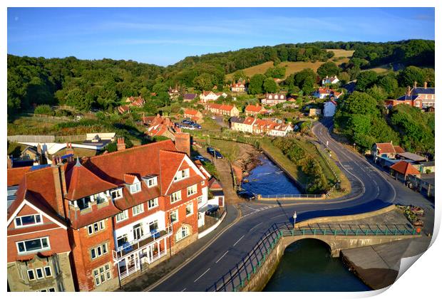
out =
[[[376,88],[340,98],[334,126],[363,151],[376,142],[392,141],[409,152],[434,154],[434,113],[408,105],[397,105],[387,113]]]

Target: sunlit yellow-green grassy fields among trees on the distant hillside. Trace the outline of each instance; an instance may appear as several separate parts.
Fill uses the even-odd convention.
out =
[[[334,57],[332,59],[329,59],[329,61],[333,61],[334,58],[339,58],[338,61],[333,61],[336,64],[346,63],[349,61],[350,57],[353,55],[354,51],[346,51],[346,50],[328,50],[334,52]],[[304,62],[304,61],[283,61],[279,65],[282,65],[286,68],[285,75],[286,77],[288,75],[291,75],[292,73],[297,73],[300,70],[304,70],[304,68],[312,68],[316,72],[316,70],[323,64],[322,61],[317,61],[316,63],[312,62]],[[244,72],[246,75],[251,77],[252,75],[259,74],[259,73],[265,73],[265,71],[268,68],[273,67],[273,61],[267,61],[266,63],[261,63],[259,65],[252,66],[251,68],[245,68]],[[225,76],[226,80],[232,79],[233,73],[227,74]]]

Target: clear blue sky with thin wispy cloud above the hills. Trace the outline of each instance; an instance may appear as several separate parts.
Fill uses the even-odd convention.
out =
[[[8,53],[131,59],[309,41],[434,39],[428,8],[9,8]]]

